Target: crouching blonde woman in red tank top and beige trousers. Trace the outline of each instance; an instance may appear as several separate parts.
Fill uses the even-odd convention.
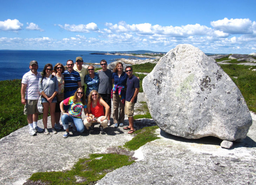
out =
[[[103,107],[105,107],[105,110],[106,110],[105,113],[104,113]],[[94,123],[99,123],[100,132],[101,134],[103,134],[104,128],[108,126],[107,116],[109,112],[109,106],[101,98],[101,96],[96,90],[92,90],[88,96],[87,109],[88,109],[88,116],[86,115],[86,119],[83,121],[83,124],[85,125],[86,129],[90,130],[90,132],[93,132]]]

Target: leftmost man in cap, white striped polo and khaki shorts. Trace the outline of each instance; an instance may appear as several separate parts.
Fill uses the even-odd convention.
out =
[[[23,75],[21,81],[21,103],[25,105],[24,114],[27,115],[29,134],[36,135],[35,132],[43,132],[43,129],[37,126],[39,114],[37,103],[40,97],[38,81],[42,75],[37,72],[38,63],[35,60],[29,63],[29,69],[30,71]]]

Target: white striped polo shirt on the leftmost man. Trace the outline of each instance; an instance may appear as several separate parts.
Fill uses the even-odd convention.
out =
[[[21,83],[26,84],[25,99],[39,99],[38,81],[40,77],[42,77],[41,73],[38,72],[35,76],[31,71],[23,75]]]

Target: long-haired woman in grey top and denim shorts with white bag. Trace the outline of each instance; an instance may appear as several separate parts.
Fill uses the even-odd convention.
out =
[[[52,64],[46,64],[43,68],[42,78],[39,79],[39,92],[42,95],[42,104],[43,104],[43,133],[49,134],[47,129],[47,117],[48,111],[50,107],[50,119],[52,123],[52,132],[56,134],[56,130],[54,128],[55,123],[55,105],[57,102],[57,98],[55,97],[58,92],[58,80],[56,76],[52,76],[53,66]],[[49,82],[48,82],[49,79]],[[47,85],[48,83],[48,85]]]

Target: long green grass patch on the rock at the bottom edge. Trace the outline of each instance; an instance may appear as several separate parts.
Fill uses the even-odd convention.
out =
[[[95,159],[102,157],[99,159]],[[132,157],[120,154],[91,154],[90,158],[79,159],[71,170],[37,172],[29,179],[32,181],[41,180],[42,182],[62,185],[78,184],[76,177],[83,179],[79,184],[95,184],[97,180],[103,178],[107,173],[121,168],[124,165],[130,165],[135,161]]]

